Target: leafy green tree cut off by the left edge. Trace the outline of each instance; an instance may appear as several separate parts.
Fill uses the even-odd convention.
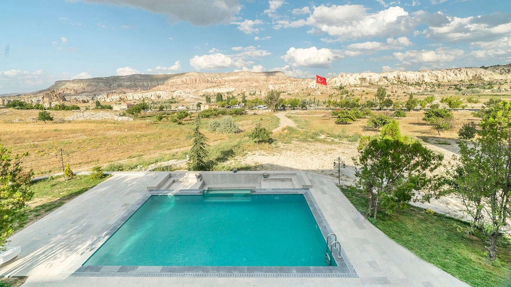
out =
[[[24,208],[34,194],[28,188],[33,173],[21,168],[26,155],[13,155],[0,143],[0,247],[24,225]]]

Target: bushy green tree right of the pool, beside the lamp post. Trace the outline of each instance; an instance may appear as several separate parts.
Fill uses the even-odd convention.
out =
[[[429,174],[443,160],[442,154],[402,137],[396,120],[385,126],[379,137],[363,137],[358,150],[359,159],[354,159],[357,184],[367,193],[368,216],[374,219],[379,209],[390,214],[406,207],[416,190],[433,182]]]

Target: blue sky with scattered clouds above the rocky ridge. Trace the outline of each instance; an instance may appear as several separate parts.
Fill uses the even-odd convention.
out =
[[[0,94],[133,73],[509,64],[510,12],[480,0],[5,0]]]

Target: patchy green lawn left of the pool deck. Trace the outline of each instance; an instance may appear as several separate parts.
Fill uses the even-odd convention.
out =
[[[108,178],[90,179],[86,175],[75,175],[71,179],[62,176],[49,177],[34,181],[29,188],[34,191],[34,197],[27,208],[27,222],[36,221],[67,201],[88,191]]]

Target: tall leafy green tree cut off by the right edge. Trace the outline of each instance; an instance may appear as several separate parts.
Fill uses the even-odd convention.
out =
[[[482,113],[475,142],[460,142],[454,185],[473,226],[482,230],[491,260],[497,258],[502,227],[511,215],[511,102],[502,101]]]

